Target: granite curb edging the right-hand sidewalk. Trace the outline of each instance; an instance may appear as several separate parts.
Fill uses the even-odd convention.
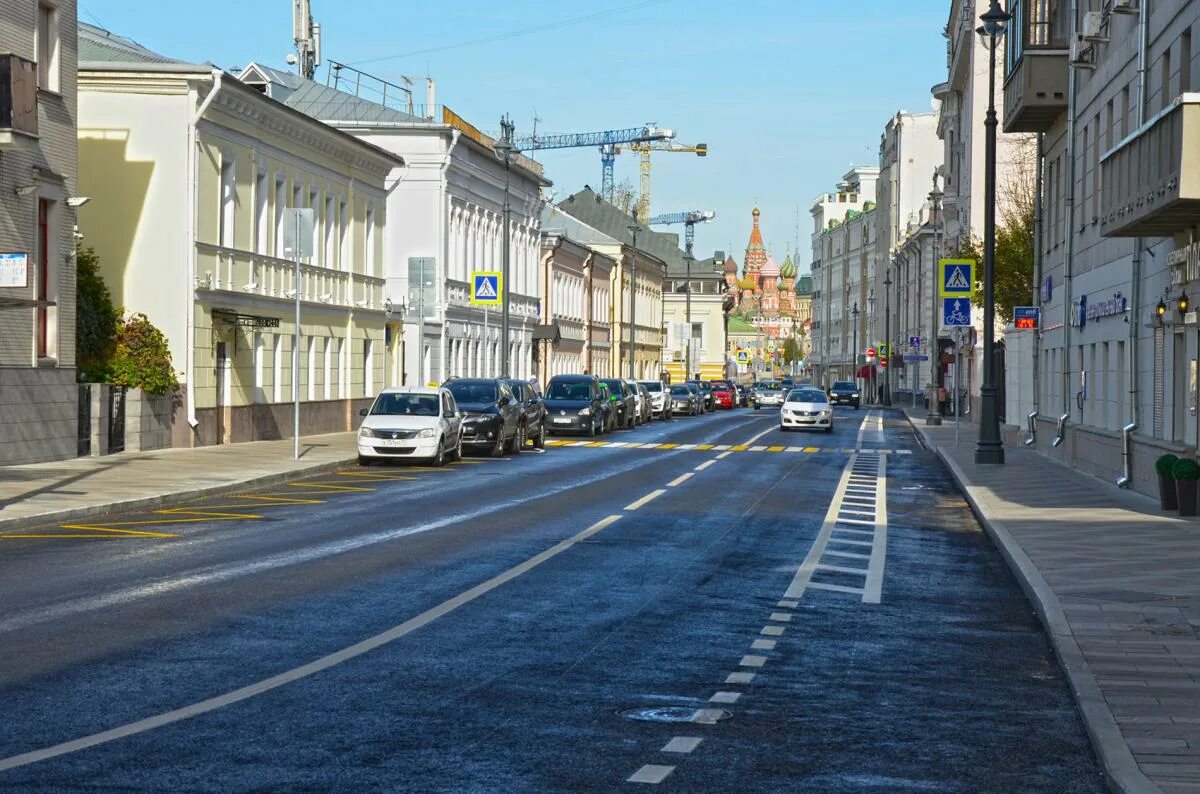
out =
[[[1088,736],[1091,736],[1096,754],[1100,759],[1100,765],[1104,768],[1109,788],[1121,794],[1162,794],[1162,789],[1141,771],[1128,742],[1121,734],[1116,717],[1112,716],[1112,710],[1096,681],[1096,675],[1075,642],[1070,622],[1057,594],[1046,583],[1042,572],[1004,523],[989,515],[994,512],[989,510],[992,500],[985,489],[972,485],[958,463],[942,451],[941,446],[925,433],[920,425],[907,414],[905,414],[905,419],[920,437],[922,444],[932,450],[949,469],[954,481],[966,497],[971,511],[1000,549],[1026,597],[1032,602],[1046,634],[1050,637],[1050,644],[1067,673],[1067,680],[1070,681],[1075,704],[1084,717],[1084,724]]]

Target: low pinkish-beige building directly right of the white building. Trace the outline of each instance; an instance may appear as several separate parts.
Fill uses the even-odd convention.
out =
[[[534,333],[538,378],[612,372],[612,270],[601,253],[620,242],[547,205],[541,213],[541,319]]]

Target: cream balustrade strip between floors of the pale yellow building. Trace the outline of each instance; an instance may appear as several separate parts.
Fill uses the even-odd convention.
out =
[[[292,300],[295,264],[265,254],[196,243],[199,289]],[[300,300],[343,308],[383,309],[384,279],[362,273],[300,265]]]

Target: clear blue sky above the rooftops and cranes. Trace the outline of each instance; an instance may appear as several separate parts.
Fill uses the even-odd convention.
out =
[[[852,163],[877,163],[888,118],[928,110],[930,86],[946,79],[949,2],[938,0],[312,5],[325,58],[354,65],[403,55],[361,68],[392,80],[431,74],[437,101],[480,128],[498,128],[509,113],[518,136],[532,132],[536,115],[545,133],[658,122],[682,143],[707,143],[707,160],[655,157],[653,211],[716,210],[715,222],[697,228],[697,257],[732,247],[740,261],[757,204],[767,246],[782,263],[799,210],[802,271],[812,199]],[[290,0],[80,0],[79,18],[226,68],[286,68],[293,50]],[[558,197],[600,186],[592,149],[538,158]],[[632,155],[617,160],[624,179],[636,185]]]

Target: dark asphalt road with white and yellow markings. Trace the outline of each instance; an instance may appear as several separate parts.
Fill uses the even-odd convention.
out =
[[[1104,790],[899,414],[600,441],[6,546],[0,789]]]

